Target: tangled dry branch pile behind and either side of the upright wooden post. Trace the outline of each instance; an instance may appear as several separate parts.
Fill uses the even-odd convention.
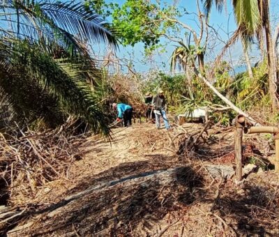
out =
[[[177,140],[177,141],[176,141]],[[210,160],[218,164],[234,164],[234,128],[212,125],[209,121],[204,125],[186,125],[179,127],[172,136],[172,144],[181,158]],[[243,163],[250,158],[262,160],[269,165],[266,157],[271,155],[271,141],[264,136],[245,136],[243,138]],[[264,160],[263,160],[264,158]]]

